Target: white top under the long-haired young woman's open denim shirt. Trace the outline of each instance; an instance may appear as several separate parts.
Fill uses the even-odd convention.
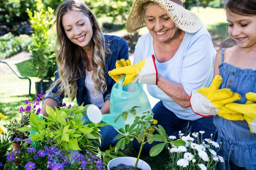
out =
[[[98,93],[98,91],[92,93],[95,87],[94,82],[92,81],[92,72],[93,71],[87,71],[88,75],[85,77],[85,88],[88,90],[90,103],[101,108],[104,104],[103,93],[102,91],[100,93]]]

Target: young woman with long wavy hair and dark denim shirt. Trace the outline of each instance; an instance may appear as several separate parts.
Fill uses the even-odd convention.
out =
[[[128,44],[117,36],[103,35],[92,11],[79,0],[66,0],[56,13],[56,59],[58,70],[54,84],[45,96],[46,105],[61,106],[65,95],[81,105],[95,104],[101,113],[110,111],[110,92],[115,81],[108,71],[116,60],[128,59]],[[117,143],[118,132],[112,126],[101,129],[101,149]]]

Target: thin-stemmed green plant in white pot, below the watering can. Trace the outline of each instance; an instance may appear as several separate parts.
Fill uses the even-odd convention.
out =
[[[139,159],[144,144],[146,143],[152,144],[153,141],[163,142],[161,144],[158,144],[157,147],[153,147],[151,149],[152,151],[150,150],[150,154],[152,156],[155,156],[155,155],[158,155],[164,149],[164,147],[167,148],[170,145],[178,147],[178,146],[185,145],[185,142],[182,140],[173,141],[169,139],[168,136],[166,136],[164,128],[161,125],[155,125],[157,124],[157,120],[153,119],[153,115],[154,115],[153,113],[150,113],[149,111],[147,111],[142,113],[142,116],[139,117],[139,116],[136,116],[136,113],[137,113],[136,108],[138,107],[134,106],[130,110],[125,111],[116,117],[115,122],[120,117],[126,120],[128,114],[131,114],[132,116],[134,116],[135,119],[132,125],[126,124],[125,129],[123,128],[119,129],[119,131],[123,135],[117,136],[117,139],[119,139],[119,141],[117,142],[117,145],[115,146],[115,148],[116,148],[116,151],[118,151],[119,148],[121,150],[124,150],[125,145],[129,144],[130,141],[132,141],[131,139],[136,138],[141,144],[141,146],[138,152],[138,156],[135,159],[135,162],[132,162],[132,166],[130,165],[131,163],[129,163],[128,167],[130,167],[131,170],[150,170],[151,168],[148,165],[145,165],[146,162]],[[155,130],[157,130],[159,134],[153,135],[153,132]],[[119,168],[119,166],[120,167],[124,166],[124,162],[131,162],[130,157],[125,157],[120,162],[116,161],[116,159],[120,159],[120,158],[112,159],[108,163],[109,170],[119,170],[116,168]],[[139,164],[141,167],[145,165],[146,168],[142,169],[141,167],[137,167]]]

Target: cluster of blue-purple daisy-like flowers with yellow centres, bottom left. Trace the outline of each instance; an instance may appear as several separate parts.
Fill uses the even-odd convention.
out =
[[[7,165],[16,170],[106,170],[102,160],[89,150],[85,150],[84,155],[76,152],[69,156],[70,153],[55,146],[36,144],[32,147],[31,139],[16,140],[21,141],[21,149],[7,154]]]

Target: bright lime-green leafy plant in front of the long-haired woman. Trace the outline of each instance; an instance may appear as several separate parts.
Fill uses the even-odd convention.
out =
[[[48,116],[40,119],[36,114],[30,115],[29,126],[20,128],[20,131],[35,131],[31,133],[30,139],[36,144],[37,142],[53,141],[53,146],[58,147],[61,151],[84,153],[88,149],[93,154],[101,155],[103,163],[106,164],[112,158],[117,157],[120,152],[114,152],[115,148],[101,151],[99,149],[101,135],[99,128],[106,126],[105,123],[94,124],[86,122],[83,115],[89,105],[73,106],[63,104],[62,107],[55,109],[46,106]]]

